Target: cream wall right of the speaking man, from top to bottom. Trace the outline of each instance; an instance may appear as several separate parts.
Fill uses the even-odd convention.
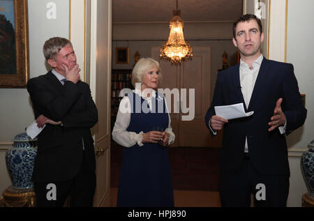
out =
[[[274,1],[274,0],[273,0]],[[301,175],[300,155],[314,139],[313,75],[313,0],[287,1],[287,62],[294,65],[300,93],[306,94],[308,115],[303,127],[287,137],[290,151],[290,195],[287,206],[301,206],[301,196],[308,192]],[[293,157],[292,154],[297,155]]]

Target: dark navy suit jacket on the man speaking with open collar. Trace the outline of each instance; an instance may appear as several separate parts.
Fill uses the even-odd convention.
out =
[[[268,123],[274,116],[279,98],[283,98],[281,107],[287,119],[287,135],[303,125],[306,119],[306,109],[301,103],[292,64],[264,58],[247,109],[241,93],[239,64],[218,73],[214,98],[205,116],[207,128],[211,116],[215,115],[215,106],[243,102],[246,112],[254,111],[252,116],[233,119],[225,124],[220,169],[234,171],[241,166],[247,137],[251,162],[258,172],[290,174],[285,135],[281,135],[278,128],[268,132]]]

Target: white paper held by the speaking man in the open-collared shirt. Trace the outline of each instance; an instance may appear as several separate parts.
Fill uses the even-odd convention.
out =
[[[238,119],[254,114],[254,112],[246,113],[242,102],[235,105],[216,106],[215,112],[217,116],[221,116],[227,120]]]

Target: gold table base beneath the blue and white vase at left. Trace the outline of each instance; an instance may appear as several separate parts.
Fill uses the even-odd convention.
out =
[[[3,191],[0,198],[0,206],[3,207],[34,207],[36,195],[33,189],[17,190],[10,185]]]

